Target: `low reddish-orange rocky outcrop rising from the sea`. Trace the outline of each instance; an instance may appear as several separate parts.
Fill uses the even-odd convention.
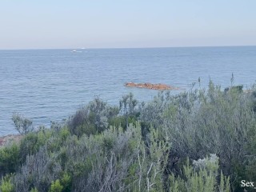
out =
[[[150,90],[178,90],[178,88],[174,87],[174,86],[167,86],[167,85],[161,84],[161,83],[152,84],[149,82],[146,82],[146,83],[126,82],[125,86],[145,88],[145,89],[150,89]]]

